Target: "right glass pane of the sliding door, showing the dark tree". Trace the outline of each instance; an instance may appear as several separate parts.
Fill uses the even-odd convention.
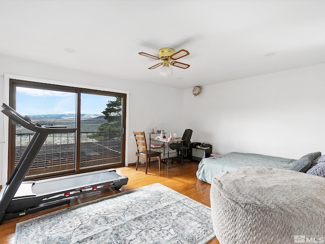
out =
[[[122,161],[122,114],[121,97],[81,94],[81,168]]]

